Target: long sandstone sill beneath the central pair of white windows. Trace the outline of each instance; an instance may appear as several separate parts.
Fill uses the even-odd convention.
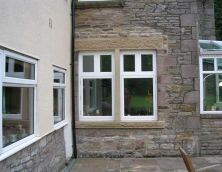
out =
[[[76,121],[76,128],[165,128],[165,121],[148,121],[148,122]]]

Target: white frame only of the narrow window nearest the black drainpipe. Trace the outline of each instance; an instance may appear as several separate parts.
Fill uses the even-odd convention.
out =
[[[63,73],[63,77],[64,78],[60,78],[59,76],[55,76],[54,71]],[[59,79],[59,80],[60,79],[64,79],[64,83],[55,83],[54,79]],[[58,116],[54,116],[54,114],[53,114],[54,121],[60,121],[62,119],[62,115],[64,115],[64,119],[63,120],[61,120],[60,122],[54,124],[54,128],[56,128],[56,127],[60,126],[61,124],[63,124],[66,121],[66,70],[62,69],[62,68],[59,68],[59,67],[56,67],[56,66],[53,66],[53,89],[54,88],[58,89],[60,94],[62,94],[61,91],[63,91],[63,94],[64,94],[63,97],[62,97],[62,100],[58,100],[59,101],[58,104],[61,102],[61,104],[64,105],[63,112],[62,112],[64,114],[59,113]]]

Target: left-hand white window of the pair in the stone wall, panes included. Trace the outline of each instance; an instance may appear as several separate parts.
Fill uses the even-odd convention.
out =
[[[79,53],[80,120],[114,119],[114,52]]]

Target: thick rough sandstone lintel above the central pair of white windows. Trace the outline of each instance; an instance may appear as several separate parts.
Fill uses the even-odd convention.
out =
[[[163,37],[76,39],[75,50],[163,49]]]

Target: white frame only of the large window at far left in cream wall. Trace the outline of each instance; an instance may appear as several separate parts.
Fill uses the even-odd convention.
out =
[[[13,59],[18,59],[20,61],[24,61],[27,63],[31,63],[34,65],[34,80],[31,79],[21,79],[21,78],[13,78],[13,77],[7,77],[5,72],[5,61],[6,57],[11,57]],[[2,142],[2,136],[3,136],[3,128],[2,128],[2,120],[3,120],[3,114],[2,114],[2,88],[3,86],[13,86],[13,87],[32,87],[33,88],[33,134],[25,137],[24,139],[21,139],[15,143],[10,144],[7,147],[3,148],[3,142]],[[23,145],[30,141],[31,139],[34,139],[36,137],[36,86],[37,86],[37,60],[25,57],[23,55],[19,55],[17,53],[13,53],[7,50],[1,50],[0,49],[0,154],[3,154],[11,149],[19,149],[19,147],[23,147]]]

